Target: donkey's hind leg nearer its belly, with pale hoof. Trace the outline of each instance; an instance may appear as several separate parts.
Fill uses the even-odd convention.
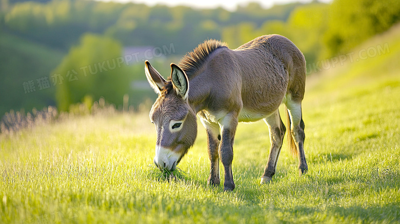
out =
[[[268,164],[264,169],[260,184],[269,182],[276,172],[276,164],[278,162],[279,153],[281,153],[282,141],[286,131],[285,125],[279,115],[279,110],[276,110],[272,115],[265,118],[264,121],[269,127],[271,149],[269,152]]]

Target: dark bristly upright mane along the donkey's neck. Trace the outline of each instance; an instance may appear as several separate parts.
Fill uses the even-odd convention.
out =
[[[222,47],[228,47],[228,45],[215,39],[205,40],[193,51],[186,53],[179,63],[179,67],[185,71],[186,75],[188,75],[188,78],[190,79],[202,69],[203,64],[208,59],[208,56],[216,49]]]

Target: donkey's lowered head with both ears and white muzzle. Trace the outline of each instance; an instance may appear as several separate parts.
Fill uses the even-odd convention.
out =
[[[151,123],[157,131],[154,164],[161,170],[174,170],[197,135],[196,113],[188,104],[189,80],[175,64],[171,64],[168,80],[147,60],[145,72],[150,86],[158,94],[150,111]]]

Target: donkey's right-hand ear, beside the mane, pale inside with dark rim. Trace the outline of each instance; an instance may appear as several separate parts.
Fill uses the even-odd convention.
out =
[[[171,80],[176,95],[188,99],[189,79],[185,72],[175,64],[171,64]]]

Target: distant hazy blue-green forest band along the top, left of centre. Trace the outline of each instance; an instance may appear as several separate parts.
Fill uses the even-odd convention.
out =
[[[84,32],[94,32],[106,33],[125,46],[179,43],[177,51],[184,54],[204,39],[220,39],[222,27],[239,22],[252,22],[259,26],[268,19],[285,20],[298,5],[263,9],[252,3],[229,12],[222,8],[195,10],[183,6],[149,7],[94,1],[24,2],[14,4],[7,12],[5,25],[10,31],[66,50]]]

